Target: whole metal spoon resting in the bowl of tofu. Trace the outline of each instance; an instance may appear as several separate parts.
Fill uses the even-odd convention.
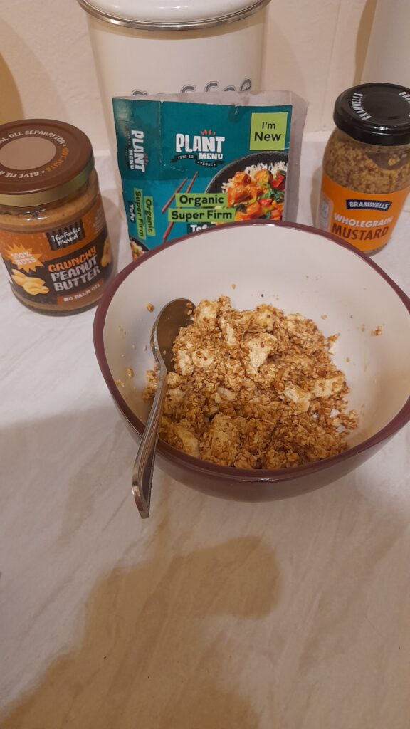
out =
[[[174,299],[158,314],[151,332],[151,347],[158,363],[158,387],[145,425],[134,463],[132,492],[139,514],[150,515],[152,472],[158,443],[160,421],[166,396],[168,373],[174,371],[172,346],[179,330],[190,323],[195,304],[189,299]]]

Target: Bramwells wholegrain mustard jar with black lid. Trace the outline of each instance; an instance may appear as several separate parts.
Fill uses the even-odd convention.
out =
[[[361,251],[387,243],[410,190],[410,89],[355,86],[336,99],[317,225]]]

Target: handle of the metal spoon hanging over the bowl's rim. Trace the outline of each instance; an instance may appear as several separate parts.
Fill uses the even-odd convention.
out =
[[[143,519],[147,519],[150,515],[152,472],[154,470],[155,450],[166,396],[167,379],[166,367],[161,367],[158,375],[157,391],[139,444],[132,474],[132,492],[139,515]]]

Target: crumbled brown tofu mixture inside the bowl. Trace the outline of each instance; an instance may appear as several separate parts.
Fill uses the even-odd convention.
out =
[[[201,301],[174,342],[160,437],[190,456],[245,469],[341,453],[357,414],[330,356],[335,339],[268,304],[237,311],[229,297]],[[150,370],[145,399],[156,386]]]

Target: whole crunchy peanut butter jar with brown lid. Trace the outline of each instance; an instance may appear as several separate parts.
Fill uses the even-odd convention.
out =
[[[112,273],[88,136],[66,122],[0,126],[0,252],[12,292],[56,315],[93,306]]]

